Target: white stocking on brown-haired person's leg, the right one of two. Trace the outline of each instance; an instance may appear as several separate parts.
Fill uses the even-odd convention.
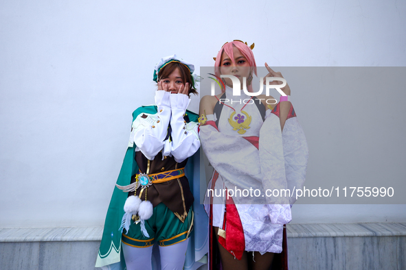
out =
[[[185,264],[186,249],[188,249],[189,238],[181,243],[168,247],[159,246],[161,254],[161,270],[182,270]]]

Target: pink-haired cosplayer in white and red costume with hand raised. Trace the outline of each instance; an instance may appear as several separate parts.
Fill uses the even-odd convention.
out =
[[[295,197],[264,194],[302,187],[308,148],[288,84],[281,88],[284,95],[278,103],[271,96],[247,95],[253,93],[251,82],[257,76],[252,49],[240,40],[223,45],[214,64],[216,77],[223,81],[221,93],[201,99],[201,145],[214,168],[205,196],[209,269],[288,269],[284,224],[291,221]],[[264,65],[268,71],[264,83],[267,77],[283,78]],[[248,93],[234,96],[238,81],[221,75],[233,75]],[[280,83],[273,79],[270,84]],[[234,190],[255,190],[262,196],[229,193]],[[227,195],[218,196],[221,191]]]

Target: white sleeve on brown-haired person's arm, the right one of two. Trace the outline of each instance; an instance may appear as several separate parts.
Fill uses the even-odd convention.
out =
[[[177,162],[182,162],[192,156],[200,147],[198,134],[199,124],[196,122],[185,123],[183,115],[188,108],[190,99],[187,95],[171,94],[170,127],[172,127],[172,146],[170,153]]]

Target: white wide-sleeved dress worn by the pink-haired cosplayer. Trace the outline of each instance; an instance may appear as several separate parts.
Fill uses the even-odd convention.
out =
[[[238,101],[243,100],[247,103],[245,105],[244,102],[231,102],[231,99],[233,101],[237,99],[237,97],[232,97],[232,88],[227,86],[225,94],[229,101],[224,102],[228,106],[223,106],[221,110],[220,119],[218,119],[218,132],[214,127],[204,125],[201,126],[200,133],[203,150],[214,169],[218,172],[218,178],[214,185],[212,205],[213,226],[218,228],[223,228],[226,197],[216,195],[221,194],[223,189],[244,188],[249,190],[249,188],[253,187],[254,189],[258,188],[258,191],[261,190],[261,194],[264,195],[264,191],[271,187],[291,189],[293,188],[292,184],[296,188],[302,186],[306,166],[304,166],[304,170],[301,168],[302,173],[299,173],[298,177],[296,175],[295,180],[290,181],[291,183],[288,184],[289,166],[286,166],[285,169],[285,162],[286,156],[289,155],[284,155],[285,147],[282,147],[282,140],[283,143],[285,143],[285,140],[300,141],[299,151],[296,152],[300,156],[305,156],[306,159],[308,154],[306,140],[296,119],[291,121],[291,118],[286,121],[284,134],[289,134],[289,138],[286,136],[286,138],[282,138],[279,117],[271,114],[271,110],[267,110],[264,122],[256,104],[247,102],[250,99],[249,96],[242,93],[238,97]],[[259,102],[259,100],[257,99],[256,102]],[[235,110],[232,117],[230,116],[234,110],[229,106]],[[243,112],[241,112],[242,110]],[[245,129],[244,134],[239,134],[238,130],[234,130],[234,127],[229,123],[229,119],[238,117],[244,120],[249,116],[251,116],[251,122],[249,128]],[[216,115],[207,116],[207,121],[210,119],[216,121]],[[267,125],[264,125],[264,123],[267,123]],[[291,124],[295,125],[296,131],[285,132],[286,127],[287,131],[292,130],[289,127]],[[260,136],[260,133],[262,136]],[[253,136],[260,137],[260,150],[243,138],[252,138]],[[297,148],[297,145],[295,148]],[[209,187],[212,186],[212,180]],[[261,254],[265,252],[280,253],[282,252],[283,224],[291,221],[290,204],[293,204],[294,199],[293,197],[282,198],[280,200],[281,204],[275,204],[275,202],[279,201],[278,199],[263,197],[262,195],[258,198],[249,196],[249,199],[233,197],[243,225],[245,251],[259,251]],[[206,195],[206,212],[209,210],[209,203],[210,196],[207,197]]]

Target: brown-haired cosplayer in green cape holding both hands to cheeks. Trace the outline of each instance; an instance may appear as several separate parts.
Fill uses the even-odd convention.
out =
[[[133,112],[96,267],[183,269],[194,223],[194,196],[185,176],[193,181],[194,173],[185,167],[192,166],[188,159],[200,147],[197,115],[186,110],[190,93],[197,93],[193,72],[194,66],[176,55],[155,66],[156,105]]]

